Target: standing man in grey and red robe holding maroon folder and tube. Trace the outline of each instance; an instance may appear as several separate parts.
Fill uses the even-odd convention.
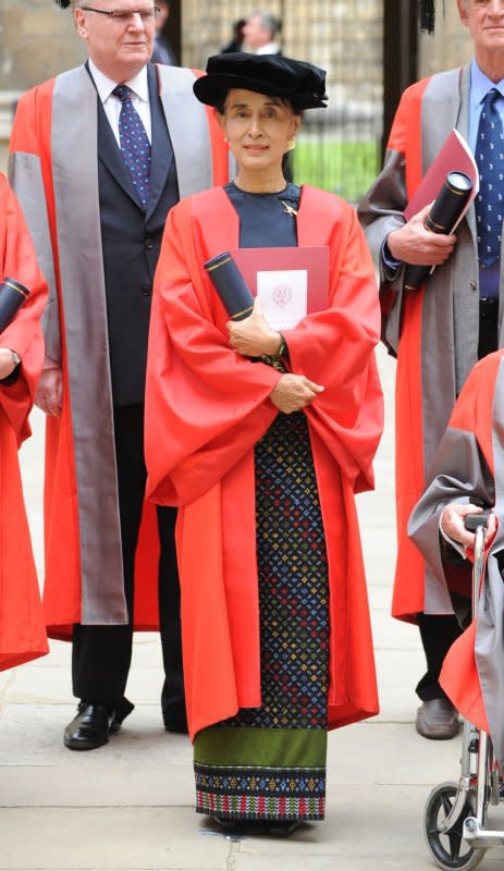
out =
[[[406,527],[468,373],[479,358],[504,344],[499,318],[499,299],[504,293],[500,234],[495,233],[495,260],[487,269],[478,250],[474,205],[456,237],[425,229],[429,206],[408,221],[403,213],[453,127],[478,158],[483,103],[492,90],[497,91],[497,115],[501,122],[504,119],[504,8],[476,0],[457,0],[457,7],[472,37],[475,59],[467,66],[429,76],[404,93],[383,171],[359,207],[380,266],[383,339],[397,357],[398,553],[392,613],[419,624],[428,668],[417,686],[422,701],[417,731],[428,738],[451,738],[458,731],[456,712],[439,675],[459,627],[451,603],[438,596],[432,572]],[[481,192],[484,196],[483,186]],[[407,263],[437,267],[417,292],[404,290]]]

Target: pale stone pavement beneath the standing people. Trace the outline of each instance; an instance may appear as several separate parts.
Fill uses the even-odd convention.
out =
[[[135,642],[128,696],[136,709],[111,743],[76,753],[62,745],[72,719],[70,649],[52,643],[34,664],[0,675],[0,871],[388,871],[432,868],[422,838],[432,786],[458,776],[459,744],[414,729],[422,672],[415,628],[389,616],[394,559],[394,364],[379,352],[388,422],[377,491],[358,498],[381,713],[330,734],[328,814],[288,841],[232,841],[193,810],[187,738],[162,729],[161,655]],[[42,421],[23,449],[25,490],[41,562]],[[504,823],[501,821],[501,827]],[[501,869],[488,854],[483,871]]]

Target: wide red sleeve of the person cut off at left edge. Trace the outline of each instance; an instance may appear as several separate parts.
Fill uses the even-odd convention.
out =
[[[0,347],[16,351],[22,359],[20,376],[12,387],[0,385],[0,405],[13,426],[17,441],[29,436],[28,414],[44,363],[40,318],[47,285],[37,266],[35,249],[21,207],[0,174],[0,252],[2,278],[20,281],[29,290],[26,303],[0,334]]]

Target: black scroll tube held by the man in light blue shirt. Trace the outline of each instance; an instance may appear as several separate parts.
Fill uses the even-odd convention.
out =
[[[426,218],[423,224],[426,230],[450,235],[464,211],[471,191],[472,182],[465,172],[448,172]],[[418,291],[429,278],[431,269],[431,266],[408,263],[404,273],[404,290]]]

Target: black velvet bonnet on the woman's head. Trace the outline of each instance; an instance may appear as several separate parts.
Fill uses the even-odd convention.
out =
[[[231,88],[244,88],[288,100],[294,111],[325,108],[325,70],[282,54],[243,51],[208,59],[207,75],[194,83],[200,102],[221,107]]]

